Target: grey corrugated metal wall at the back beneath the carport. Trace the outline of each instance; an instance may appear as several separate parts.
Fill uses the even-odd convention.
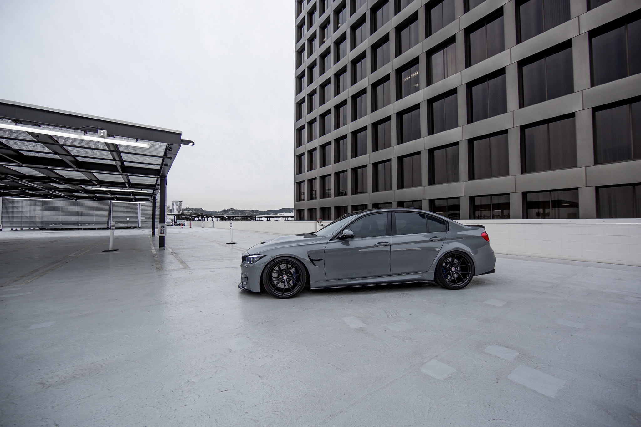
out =
[[[4,229],[95,229],[107,228],[109,202],[92,200],[22,200],[0,198]],[[140,211],[138,207],[140,206]],[[156,203],[156,218],[159,209]],[[116,228],[151,229],[151,203],[113,202]]]

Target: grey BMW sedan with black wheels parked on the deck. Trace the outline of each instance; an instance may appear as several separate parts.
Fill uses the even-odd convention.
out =
[[[437,282],[463,289],[494,273],[483,225],[463,225],[419,209],[345,214],[314,233],[281,236],[242,254],[240,289],[292,298],[312,289]]]

